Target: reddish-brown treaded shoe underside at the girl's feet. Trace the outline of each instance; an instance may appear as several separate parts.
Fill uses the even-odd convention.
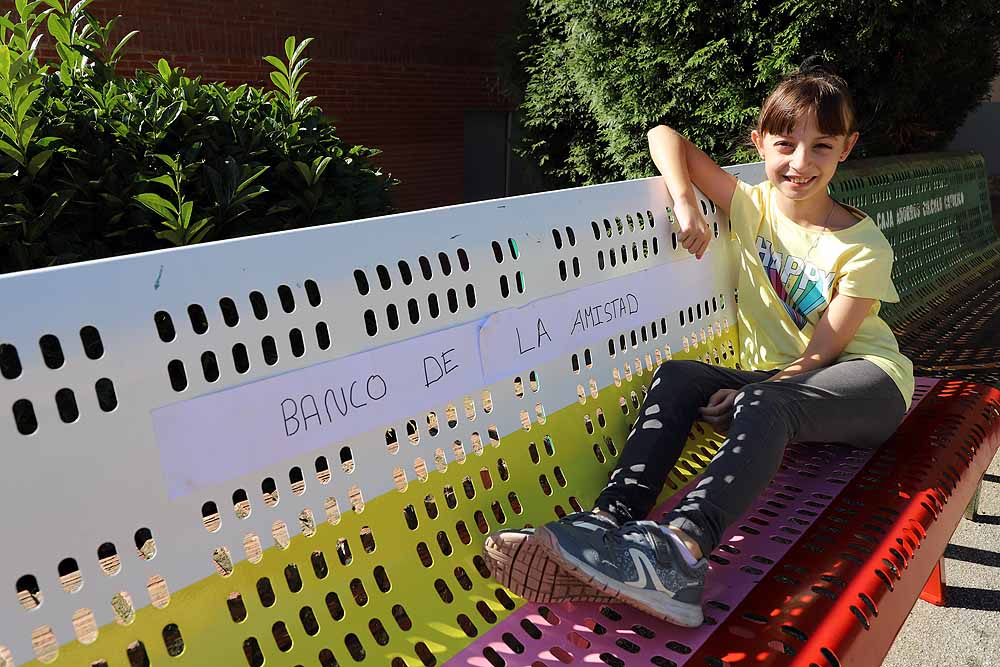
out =
[[[493,578],[530,602],[614,602],[566,573],[530,535],[504,533],[486,538],[483,557]]]

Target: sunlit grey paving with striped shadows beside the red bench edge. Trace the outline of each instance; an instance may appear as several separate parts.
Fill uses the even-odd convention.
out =
[[[1000,455],[979,512],[945,551],[947,606],[917,600],[883,667],[1000,667]]]

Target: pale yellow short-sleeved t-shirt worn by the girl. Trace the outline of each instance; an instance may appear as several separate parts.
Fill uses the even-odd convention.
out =
[[[837,361],[867,359],[895,381],[906,406],[913,398],[913,363],[899,351],[881,301],[895,303],[892,246],[875,222],[848,207],[859,221],[838,231],[814,231],[778,208],[774,185],[738,181],[730,225],[739,252],[740,365],[784,368],[805,352],[833,292],[876,299]]]

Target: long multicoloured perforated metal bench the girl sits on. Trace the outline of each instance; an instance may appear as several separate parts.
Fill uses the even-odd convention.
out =
[[[947,379],[920,379],[870,457],[789,448],[712,554],[704,626],[524,604],[490,577],[486,533],[604,485],[658,363],[737,362],[727,223],[704,202],[718,239],[694,262],[662,192],[0,278],[0,665],[877,664],[1000,446],[978,157],[835,185],[896,248],[905,351]],[[973,294],[965,330],[935,319]],[[665,503],[718,444],[692,430]]]

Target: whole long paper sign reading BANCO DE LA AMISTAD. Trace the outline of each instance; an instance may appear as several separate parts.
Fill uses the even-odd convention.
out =
[[[222,484],[413,417],[659,320],[689,305],[685,295],[695,293],[699,280],[724,275],[725,254],[711,261],[693,271],[662,265],[154,410],[168,495]]]

